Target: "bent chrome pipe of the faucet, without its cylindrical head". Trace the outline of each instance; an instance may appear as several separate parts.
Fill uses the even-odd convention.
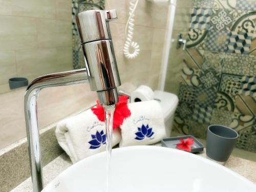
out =
[[[33,191],[44,188],[42,177],[41,148],[37,118],[37,97],[46,87],[68,86],[89,83],[86,69],[72,70],[40,76],[33,80],[26,91],[24,99],[25,120],[27,127],[28,150],[33,182]]]

